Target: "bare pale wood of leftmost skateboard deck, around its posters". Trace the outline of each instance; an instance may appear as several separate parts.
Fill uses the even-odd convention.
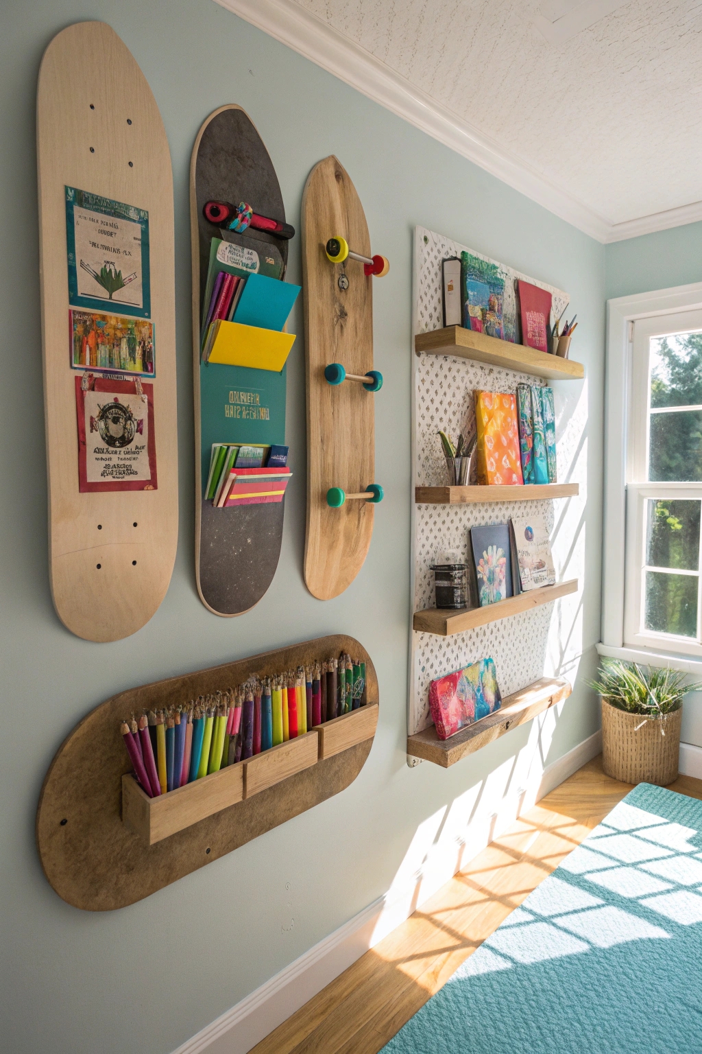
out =
[[[151,89],[104,22],[72,25],[46,48],[39,73],[37,153],[52,596],[72,632],[114,641],[148,622],[168,588],[178,542],[178,435],[171,155]],[[72,369],[68,331],[69,188],[147,214],[140,317],[153,324],[155,373],[141,379],[154,412],[144,414],[140,427],[156,441],[154,489],[79,490],[76,378],[82,371]],[[78,269],[81,281],[86,270]],[[131,321],[133,308],[120,301],[120,292],[108,308]],[[100,302],[95,300],[96,313]],[[145,354],[140,351],[140,362]],[[115,369],[124,376],[121,366]],[[138,386],[131,379],[125,388],[136,392]]]

